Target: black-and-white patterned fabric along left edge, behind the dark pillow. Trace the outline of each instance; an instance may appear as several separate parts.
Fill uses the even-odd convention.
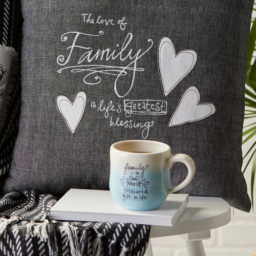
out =
[[[22,48],[22,11],[20,1],[0,2],[0,44],[13,47],[20,55]],[[20,72],[16,78],[9,113],[0,130],[0,177],[7,175],[12,161],[12,151],[18,134],[20,113]],[[0,179],[0,183],[3,179]]]

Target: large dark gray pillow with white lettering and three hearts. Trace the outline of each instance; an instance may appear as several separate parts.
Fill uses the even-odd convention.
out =
[[[22,1],[22,111],[2,192],[109,189],[119,140],[196,163],[179,191],[251,207],[241,173],[253,0]],[[172,183],[186,176],[172,168]]]

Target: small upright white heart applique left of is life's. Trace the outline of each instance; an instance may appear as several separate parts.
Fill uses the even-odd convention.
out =
[[[87,95],[80,91],[76,94],[73,102],[65,95],[56,98],[57,109],[64,118],[70,132],[75,133],[84,111],[86,110]]]

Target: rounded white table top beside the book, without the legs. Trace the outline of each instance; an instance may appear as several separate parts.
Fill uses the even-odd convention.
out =
[[[152,226],[151,237],[186,234],[226,225],[231,219],[229,204],[219,197],[188,197],[188,203],[174,226]]]

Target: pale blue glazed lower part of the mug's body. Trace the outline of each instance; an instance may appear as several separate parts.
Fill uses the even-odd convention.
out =
[[[110,172],[110,191],[119,206],[128,210],[153,210],[159,208],[167,197],[170,187],[170,169],[163,173],[158,169],[144,169],[146,165],[137,165],[137,172],[122,172],[114,165]],[[142,175],[143,174],[143,175]],[[143,177],[141,177],[143,176]]]

